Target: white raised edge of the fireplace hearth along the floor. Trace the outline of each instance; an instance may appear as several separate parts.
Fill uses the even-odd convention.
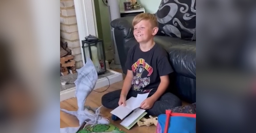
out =
[[[123,74],[122,73],[118,73],[118,72],[110,70],[110,69],[107,69],[107,70],[110,71],[111,73],[114,73],[114,74],[108,76],[109,80],[107,78],[98,79],[94,90],[99,89],[99,88],[104,87],[104,86],[108,86],[109,82],[110,82],[110,84],[113,84],[113,83],[116,83],[116,82],[119,82],[119,81],[123,80]],[[67,100],[67,99],[70,99],[70,98],[73,98],[73,97],[75,97],[75,87],[60,92],[60,101],[64,101],[64,100]]]

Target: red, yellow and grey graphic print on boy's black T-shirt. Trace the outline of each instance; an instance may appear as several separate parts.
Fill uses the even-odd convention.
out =
[[[134,91],[142,91],[150,83],[150,75],[153,73],[153,68],[145,62],[144,59],[138,59],[132,66],[132,71],[135,73],[133,76],[132,84]],[[145,71],[145,72],[144,72]],[[143,74],[147,73],[147,74]],[[142,77],[144,76],[145,77]]]

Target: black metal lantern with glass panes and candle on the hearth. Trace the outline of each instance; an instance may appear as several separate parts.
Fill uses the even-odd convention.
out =
[[[94,41],[82,40],[82,48],[85,62],[86,56],[90,56],[90,59],[93,61],[98,75],[104,74],[106,72],[106,57],[103,41],[100,39]]]

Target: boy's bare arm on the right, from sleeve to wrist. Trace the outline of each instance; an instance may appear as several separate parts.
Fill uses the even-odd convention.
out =
[[[161,81],[156,92],[151,96],[151,98],[153,98],[154,101],[156,101],[163,93],[165,93],[170,83],[168,75],[160,76],[160,80]]]

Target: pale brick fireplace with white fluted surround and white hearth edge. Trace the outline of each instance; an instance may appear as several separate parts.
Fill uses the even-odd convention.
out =
[[[67,13],[67,15],[69,14],[73,16],[69,16],[69,17],[64,16],[61,18],[61,22],[72,23],[69,26],[76,25],[76,28],[75,26],[73,26],[72,28],[68,28],[66,24],[63,24],[63,26],[61,27],[61,29],[65,29],[70,32],[69,34],[67,34],[67,32],[62,32],[61,34],[62,38],[69,37],[69,39],[74,39],[72,41],[69,39],[62,39],[64,44],[67,42],[67,46],[71,50],[71,55],[73,55],[73,57],[71,56],[71,57],[67,57],[67,59],[63,59],[63,62],[65,62],[64,66],[66,66],[67,69],[69,69],[70,66],[67,66],[68,64],[66,63],[69,62],[69,65],[73,65],[72,60],[75,60],[75,67],[77,70],[80,67],[83,67],[83,65],[86,63],[85,57],[83,55],[85,55],[86,57],[90,57],[89,52],[83,51],[82,41],[85,40],[85,37],[88,35],[93,35],[98,37],[95,7],[94,7],[94,0],[68,0],[68,1],[73,1],[73,6],[72,6],[72,2],[67,3],[67,0],[63,0],[63,1],[61,0],[61,2],[64,2],[64,4],[66,2],[66,5],[72,6],[72,7],[67,7],[66,9],[62,9],[63,10],[62,13]],[[75,15],[74,15],[74,12],[72,11],[66,12],[71,8],[74,8]],[[65,56],[69,56],[69,54]],[[105,62],[104,59],[105,58],[103,58],[102,61]],[[94,89],[98,89],[104,86],[110,86],[110,84],[112,83],[123,80],[122,73],[118,73],[113,70],[110,70],[108,68],[108,62],[106,62],[105,64],[106,64],[105,66],[106,71],[104,74],[98,75],[98,81]],[[66,69],[62,69],[62,71],[66,71]],[[63,75],[60,76],[60,101],[63,101],[75,96],[74,81],[76,80],[76,78],[77,78],[77,73],[73,73],[73,74],[68,73],[65,76]],[[61,81],[65,81],[66,82],[65,85],[62,85]]]

